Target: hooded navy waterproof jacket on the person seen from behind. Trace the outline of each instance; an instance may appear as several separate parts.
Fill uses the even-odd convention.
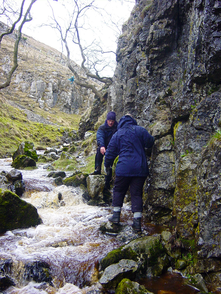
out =
[[[154,137],[145,128],[138,126],[131,116],[123,116],[108,144],[104,166],[113,164],[119,155],[116,165],[116,176],[140,176],[149,175],[145,148],[154,145]]]

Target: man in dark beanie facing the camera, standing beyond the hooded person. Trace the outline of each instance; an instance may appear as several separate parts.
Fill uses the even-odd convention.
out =
[[[108,112],[107,119],[105,123],[98,128],[97,131],[97,153],[95,156],[95,175],[100,175],[101,165],[103,162],[103,157],[105,155],[106,149],[113,134],[117,131],[118,123],[116,121],[116,113],[113,111]],[[108,176],[105,176],[105,188],[110,189],[110,180],[112,177],[112,169]]]

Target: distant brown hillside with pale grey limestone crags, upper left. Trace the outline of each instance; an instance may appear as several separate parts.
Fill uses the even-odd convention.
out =
[[[0,33],[5,31],[0,22]],[[13,64],[14,35],[5,36],[1,41],[0,71],[1,83]],[[3,98],[18,101],[32,98],[42,109],[59,108],[66,113],[83,113],[94,101],[91,90],[81,88],[68,79],[73,76],[67,67],[67,60],[56,49],[32,37],[22,35],[18,52],[19,67],[15,71],[8,92],[1,91]],[[81,71],[74,61],[72,67]],[[85,80],[87,77],[85,76]],[[91,81],[100,88],[96,81]]]

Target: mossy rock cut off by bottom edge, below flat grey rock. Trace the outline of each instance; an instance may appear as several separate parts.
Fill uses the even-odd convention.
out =
[[[129,279],[123,279],[117,286],[115,294],[153,294],[146,290],[143,285]]]

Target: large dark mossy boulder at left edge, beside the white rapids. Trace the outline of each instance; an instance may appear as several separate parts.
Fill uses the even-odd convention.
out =
[[[0,189],[0,232],[42,223],[37,208],[7,189]]]

